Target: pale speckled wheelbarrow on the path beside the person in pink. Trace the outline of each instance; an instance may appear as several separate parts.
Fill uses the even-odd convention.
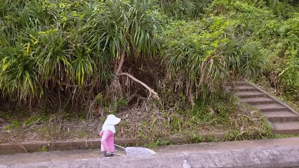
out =
[[[141,147],[122,147],[119,145],[114,144],[116,147],[119,147],[121,149],[123,149],[126,154],[119,154],[119,153],[114,153],[114,155],[116,156],[136,156],[136,155],[146,155],[146,154],[156,154],[156,152],[154,152],[151,149],[147,149],[147,148],[141,148]]]

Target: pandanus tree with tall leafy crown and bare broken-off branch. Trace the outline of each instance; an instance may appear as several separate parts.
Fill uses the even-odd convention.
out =
[[[149,95],[159,98],[145,83],[122,71],[126,58],[152,57],[159,51],[156,31],[160,25],[154,7],[151,0],[108,0],[85,28],[91,33],[89,40],[103,59],[118,60],[111,86],[119,82],[120,75],[126,75],[145,87]]]

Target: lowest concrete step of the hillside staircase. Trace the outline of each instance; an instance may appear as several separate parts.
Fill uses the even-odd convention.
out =
[[[299,134],[299,121],[273,122],[273,134]]]

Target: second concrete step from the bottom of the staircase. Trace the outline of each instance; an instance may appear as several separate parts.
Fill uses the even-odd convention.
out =
[[[290,111],[270,111],[264,112],[264,114],[270,122],[299,121],[299,115],[291,113]]]

